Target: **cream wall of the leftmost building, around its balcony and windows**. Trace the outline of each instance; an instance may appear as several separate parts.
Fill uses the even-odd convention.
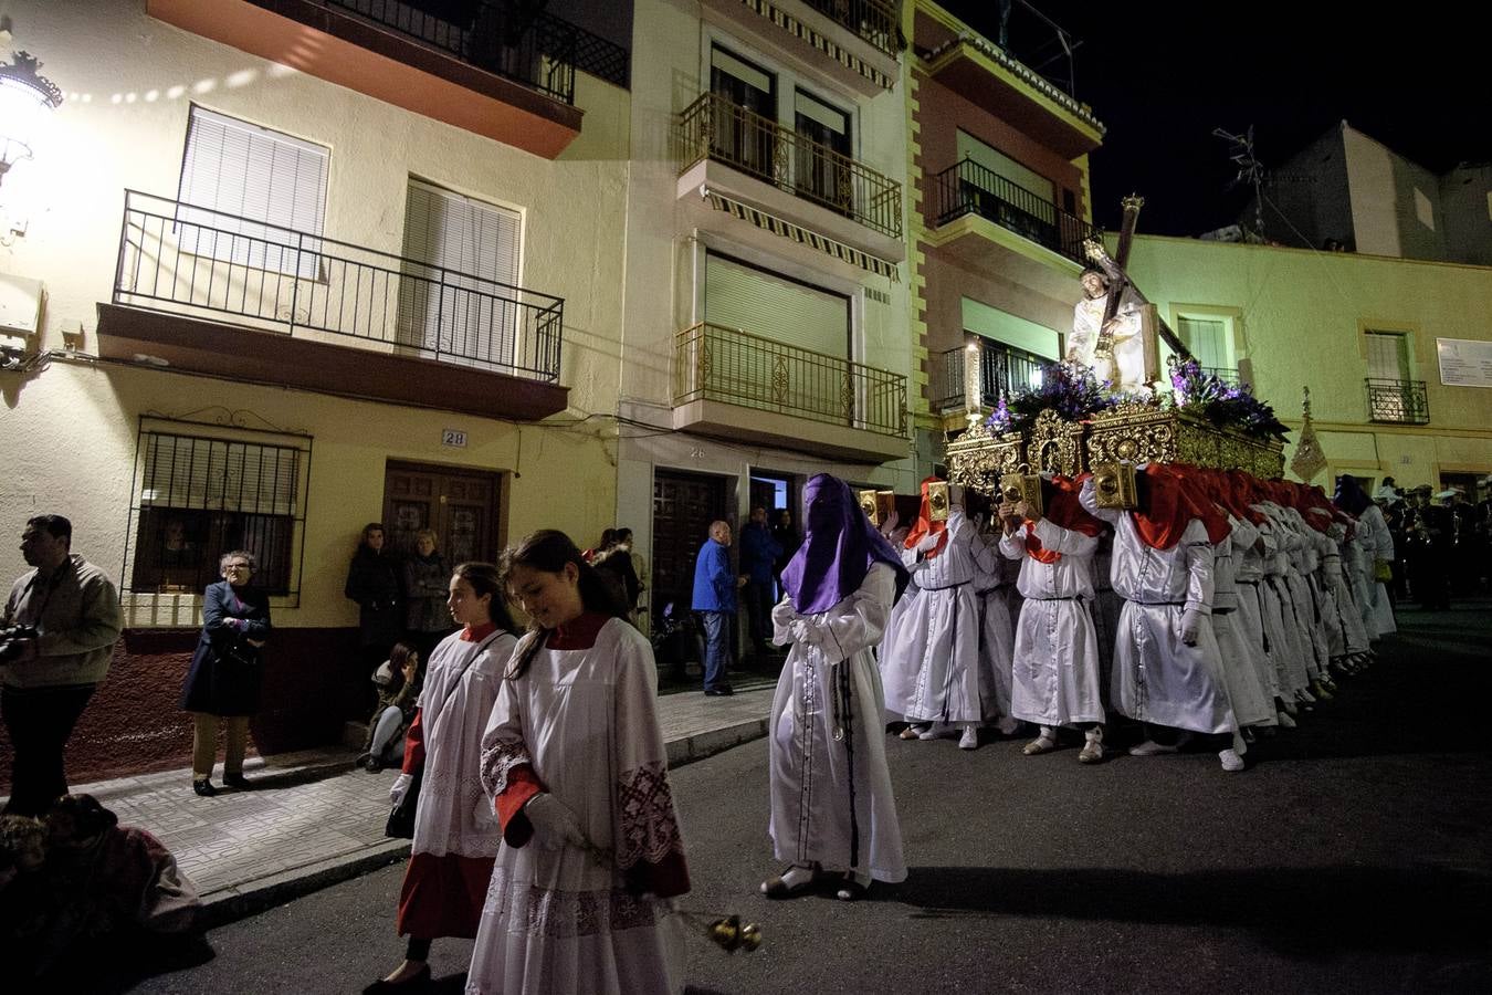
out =
[[[363,524],[382,516],[388,459],[507,473],[509,540],[554,527],[586,546],[612,524],[615,428],[607,419],[579,422],[615,415],[618,403],[625,90],[577,73],[583,133],[548,161],[170,27],[139,0],[18,0],[7,13],[15,48],[34,52],[66,92],[36,158],[0,189],[7,218],[25,224],[22,237],[0,245],[0,273],[46,288],[42,333],[10,342],[33,354],[60,351],[63,328],[81,322],[84,357],[0,373],[0,530],[19,534],[25,518],[43,510],[69,515],[75,549],[118,579],[139,418],[213,421],[233,412],[248,412],[251,425],[313,437],[300,606],[276,609],[279,627],[357,624],[342,585]],[[560,382],[570,388],[570,410],[518,425],[91,361],[95,304],[110,300],[113,285],[124,191],[176,197],[194,101],[330,148],[328,239],[398,254],[410,176],[519,209],[521,283],[565,300]],[[442,446],[445,428],[466,431],[467,448]],[[0,544],[0,576],[24,570],[15,543]],[[134,621],[189,625],[195,603],[184,598]]]

